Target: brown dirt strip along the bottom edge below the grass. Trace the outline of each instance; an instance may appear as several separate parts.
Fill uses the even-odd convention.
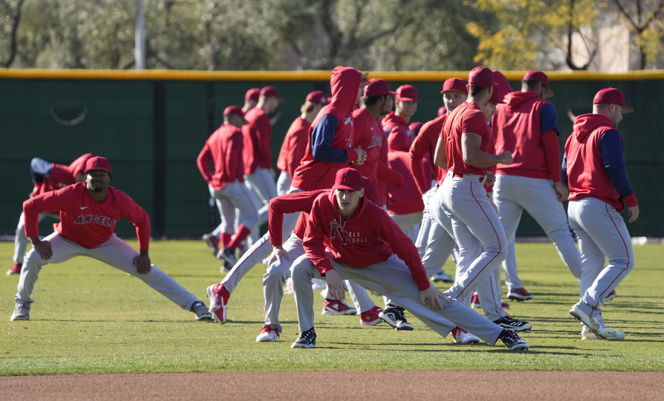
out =
[[[664,372],[361,370],[1,376],[1,400],[661,400]]]

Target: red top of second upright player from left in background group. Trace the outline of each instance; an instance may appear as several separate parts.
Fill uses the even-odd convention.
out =
[[[259,107],[254,107],[244,115],[248,124],[242,127],[244,134],[244,173],[253,174],[257,167],[272,167],[272,125],[270,117]],[[249,146],[251,145],[251,146]]]

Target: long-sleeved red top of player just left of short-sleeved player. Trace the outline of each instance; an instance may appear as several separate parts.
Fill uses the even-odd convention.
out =
[[[447,114],[443,114],[434,120],[424,123],[422,129],[420,129],[420,133],[418,133],[412,145],[410,145],[410,150],[408,151],[408,155],[410,156],[410,171],[412,171],[413,178],[421,194],[429,191],[431,180],[438,181],[442,177],[438,181],[438,185],[442,185],[443,179],[445,179],[445,175],[447,174],[447,171],[441,173],[439,171],[441,168],[434,164],[436,145],[438,144],[440,131],[442,131],[447,117]],[[428,169],[426,169],[427,162],[429,165]],[[426,171],[429,171],[430,174],[426,174]]]

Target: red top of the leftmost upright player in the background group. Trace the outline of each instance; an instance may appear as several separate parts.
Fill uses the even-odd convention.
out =
[[[216,191],[226,187],[226,183],[244,183],[243,149],[244,139],[240,128],[228,124],[214,131],[205,141],[205,146],[196,160],[205,182],[212,185]],[[214,165],[213,175],[210,175],[210,161]]]

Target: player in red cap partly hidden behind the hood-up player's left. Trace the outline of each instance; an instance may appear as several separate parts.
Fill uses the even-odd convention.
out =
[[[300,108],[301,115],[288,128],[277,160],[277,168],[281,171],[277,180],[278,195],[286,195],[290,190],[293,173],[295,173],[295,169],[299,166],[305,149],[307,149],[309,127],[311,127],[313,119],[316,118],[318,112],[327,102],[329,102],[329,98],[325,92],[320,90],[311,92]]]

